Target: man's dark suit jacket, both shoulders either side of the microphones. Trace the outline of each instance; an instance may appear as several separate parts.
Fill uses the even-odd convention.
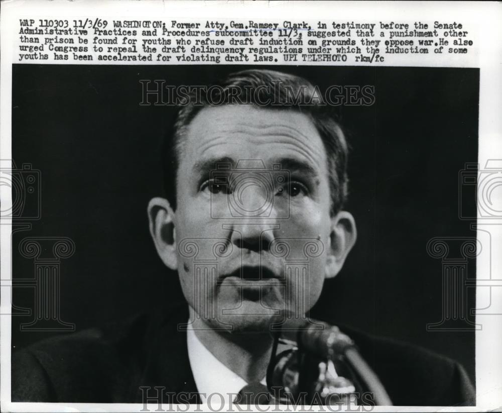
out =
[[[94,403],[197,402],[186,333],[168,317],[138,316],[39,342],[12,358],[12,401]],[[393,340],[341,328],[379,375],[395,405],[475,405],[475,392],[455,361]],[[141,389],[151,386],[152,389]],[[154,389],[157,386],[158,390]],[[175,393],[177,398],[168,399]],[[189,393],[192,398],[189,398]]]

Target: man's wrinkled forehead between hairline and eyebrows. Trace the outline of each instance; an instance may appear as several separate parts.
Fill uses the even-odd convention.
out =
[[[257,159],[267,166],[292,159],[324,172],[326,153],[311,119],[293,110],[221,106],[201,110],[187,128],[180,163],[227,157]]]

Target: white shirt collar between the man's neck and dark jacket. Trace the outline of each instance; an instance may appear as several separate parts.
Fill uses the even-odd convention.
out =
[[[223,396],[227,393],[237,394],[242,387],[248,384],[242,377],[214,357],[191,328],[188,328],[187,331],[187,346],[190,367],[202,402],[211,393],[220,393]],[[267,385],[265,377],[261,383]]]

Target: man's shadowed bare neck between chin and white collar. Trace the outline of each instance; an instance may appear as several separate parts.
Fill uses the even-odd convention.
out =
[[[194,317],[190,307],[190,319],[195,320],[193,329],[200,342],[221,363],[245,381],[261,381],[270,361],[273,339],[269,332],[233,333],[215,331]]]

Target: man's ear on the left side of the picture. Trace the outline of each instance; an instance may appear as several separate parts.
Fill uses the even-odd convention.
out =
[[[174,217],[174,212],[167,199],[153,198],[148,203],[150,235],[154,240],[159,257],[172,270],[178,269]]]

